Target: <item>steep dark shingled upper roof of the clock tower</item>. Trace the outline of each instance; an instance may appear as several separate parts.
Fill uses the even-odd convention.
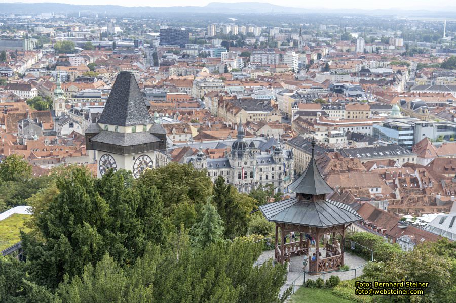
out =
[[[117,75],[98,123],[117,126],[154,123],[131,72],[122,71]]]

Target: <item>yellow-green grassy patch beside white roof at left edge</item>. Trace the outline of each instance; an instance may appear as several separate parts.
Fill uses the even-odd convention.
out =
[[[0,221],[0,250],[13,246],[21,239],[19,230],[30,231],[24,226],[24,222],[30,218],[28,214],[12,214],[10,217]]]

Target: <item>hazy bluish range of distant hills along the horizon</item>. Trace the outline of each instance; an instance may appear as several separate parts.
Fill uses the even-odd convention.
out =
[[[446,7],[444,12],[435,10],[400,10],[400,9],[384,9],[384,10],[361,10],[361,9],[309,9],[309,8],[293,8],[278,6],[270,3],[262,2],[244,2],[244,3],[220,3],[212,2],[206,6],[185,6],[185,7],[123,7],[118,5],[73,5],[63,3],[1,3],[0,14],[41,14],[41,13],[88,13],[108,15],[147,15],[147,14],[303,14],[312,12],[324,13],[341,13],[341,14],[377,14],[377,15],[398,15],[401,16],[428,16],[428,17],[452,17],[456,12],[456,7]],[[436,8],[437,9],[437,8]]]

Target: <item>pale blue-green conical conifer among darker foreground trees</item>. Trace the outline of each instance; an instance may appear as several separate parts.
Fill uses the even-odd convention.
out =
[[[207,203],[201,209],[202,219],[196,223],[190,230],[193,235],[192,241],[195,245],[206,247],[210,243],[220,243],[223,238],[223,220],[217,213],[217,209],[211,204],[211,198],[208,198]]]

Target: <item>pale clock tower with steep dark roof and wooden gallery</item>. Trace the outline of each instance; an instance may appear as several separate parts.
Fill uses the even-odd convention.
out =
[[[166,150],[166,131],[150,117],[131,72],[117,75],[100,119],[86,129],[86,150],[98,165],[98,178],[121,168],[138,178],[157,167],[157,153]]]

